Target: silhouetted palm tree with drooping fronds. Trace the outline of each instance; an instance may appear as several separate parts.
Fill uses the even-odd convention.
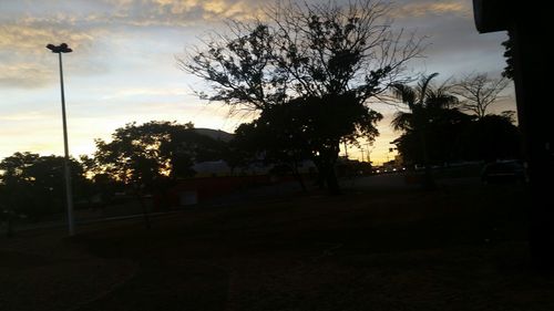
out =
[[[425,167],[424,186],[434,186],[430,156],[429,156],[429,132],[431,125],[439,120],[459,113],[455,108],[458,99],[448,92],[445,84],[439,87],[431,86],[431,80],[439,73],[424,75],[416,87],[406,84],[393,85],[393,95],[407,105],[407,112],[397,112],[391,122],[396,131],[411,133],[419,137],[421,146],[421,158]]]

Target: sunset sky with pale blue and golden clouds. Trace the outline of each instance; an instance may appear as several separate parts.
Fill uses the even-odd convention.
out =
[[[181,71],[176,58],[199,45],[225,20],[246,20],[273,0],[0,0],[0,159],[16,152],[63,155],[58,55],[63,54],[70,154],[94,152],[94,139],[130,122],[193,122],[233,133],[245,117],[194,95],[205,87]],[[345,2],[348,2],[345,0]],[[387,2],[387,1],[386,1]],[[505,32],[479,34],[471,0],[398,0],[393,25],[425,37],[414,73],[439,72],[438,82],[471,73],[499,76]],[[493,112],[515,110],[510,85]],[[392,159],[390,127],[398,107],[376,104],[381,135],[362,145],[376,163]],[[350,157],[361,151],[350,148]]]

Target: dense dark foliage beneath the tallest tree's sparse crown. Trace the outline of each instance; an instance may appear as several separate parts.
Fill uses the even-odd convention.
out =
[[[237,129],[243,149],[264,155],[267,162],[288,165],[298,176],[298,165],[311,159],[321,182],[338,187],[334,166],[340,139],[356,142],[375,137],[381,115],[360,105],[355,95],[297,99],[269,107]],[[340,102],[340,105],[337,104]]]

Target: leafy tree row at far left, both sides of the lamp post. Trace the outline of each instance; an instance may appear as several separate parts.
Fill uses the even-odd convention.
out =
[[[111,141],[95,141],[91,156],[70,158],[74,198],[84,205],[109,203],[114,193],[163,190],[195,175],[198,162],[226,157],[227,144],[195,131],[192,123],[148,122],[115,129]],[[24,215],[30,220],[64,209],[64,158],[14,153],[0,162],[0,208],[3,218]],[[101,196],[101,197],[98,197]]]

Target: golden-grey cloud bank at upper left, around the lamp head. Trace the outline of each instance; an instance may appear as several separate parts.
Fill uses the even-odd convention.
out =
[[[0,87],[42,87],[52,83],[48,43],[66,42],[74,51],[73,73],[104,73],[113,52],[131,32],[151,34],[167,29],[248,19],[258,11],[254,0],[103,0],[62,2],[17,1],[0,17]],[[2,8],[4,10],[4,8]],[[148,46],[146,46],[148,48]]]

